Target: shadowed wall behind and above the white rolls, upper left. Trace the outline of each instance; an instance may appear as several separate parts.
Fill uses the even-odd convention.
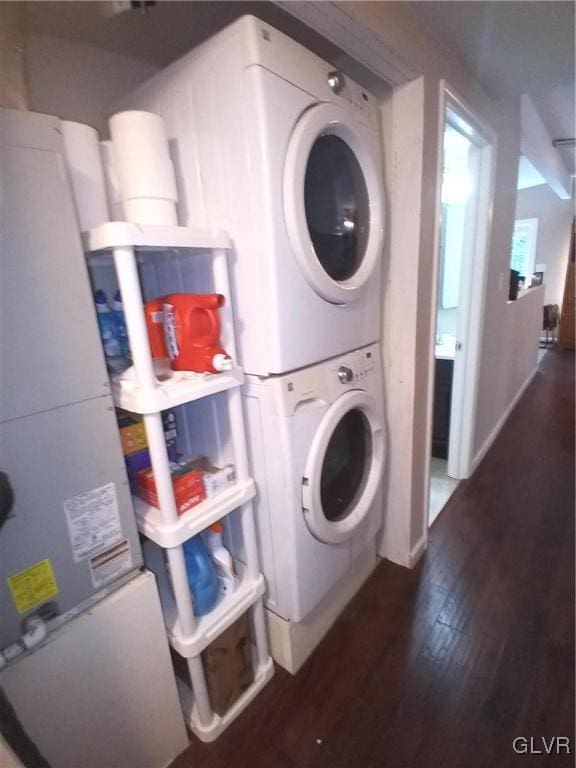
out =
[[[126,56],[54,37],[26,40],[30,109],[76,120],[107,135],[114,104],[157,70]]]

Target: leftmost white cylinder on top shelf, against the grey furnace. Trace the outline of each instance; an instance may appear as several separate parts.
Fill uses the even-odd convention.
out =
[[[80,230],[86,232],[110,220],[98,132],[69,120],[60,125]]]

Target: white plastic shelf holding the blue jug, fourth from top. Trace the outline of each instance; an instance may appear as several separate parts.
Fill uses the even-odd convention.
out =
[[[184,658],[198,656],[202,653],[213,640],[264,594],[265,583],[262,574],[258,574],[256,578],[252,579],[242,563],[235,561],[234,565],[238,573],[239,583],[234,592],[221,597],[210,613],[199,616],[196,620],[196,629],[191,635],[183,635],[178,621],[176,602],[166,574],[162,550],[146,543],[144,551],[146,566],[153,571],[158,582],[168,642]]]

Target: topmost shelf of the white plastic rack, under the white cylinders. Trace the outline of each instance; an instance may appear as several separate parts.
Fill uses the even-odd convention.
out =
[[[212,250],[231,248],[230,237],[224,230],[191,229],[133,224],[128,221],[110,221],[82,234],[84,249],[90,253],[110,251],[114,248],[138,248],[143,251],[164,249]]]

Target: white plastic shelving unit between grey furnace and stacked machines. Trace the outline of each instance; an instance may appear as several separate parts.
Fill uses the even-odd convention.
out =
[[[84,247],[89,264],[102,265],[110,263],[112,259],[116,270],[133,366],[129,376],[112,377],[112,390],[119,407],[143,415],[159,500],[159,509],[156,509],[134,497],[136,519],[140,532],[149,539],[144,546],[146,563],[158,580],[168,640],[188,664],[192,689],[179,683],[185,717],[200,739],[212,741],[252,701],[274,672],[264,625],[264,578],[259,570],[251,503],[255,486],[248,467],[240,399],[243,373],[241,368],[235,366],[227,373],[174,373],[161,379],[157,377],[148,343],[138,262],[145,261],[148,255],[157,258],[159,253],[165,253],[167,258],[178,258],[179,253],[209,253],[214,291],[226,296],[228,302],[223,318],[224,345],[232,359],[236,360],[229,306],[227,254],[230,240],[221,231],[110,222],[86,232]],[[234,447],[236,483],[183,515],[178,515],[161,412],[224,392]],[[238,585],[231,595],[220,599],[213,611],[206,616],[196,617],[182,545],[211,523],[233,512],[240,515],[245,552],[245,562],[237,562]],[[168,581],[164,554],[170,568],[172,587]],[[219,716],[210,706],[201,653],[247,611],[252,616],[254,682],[228,712]]]

